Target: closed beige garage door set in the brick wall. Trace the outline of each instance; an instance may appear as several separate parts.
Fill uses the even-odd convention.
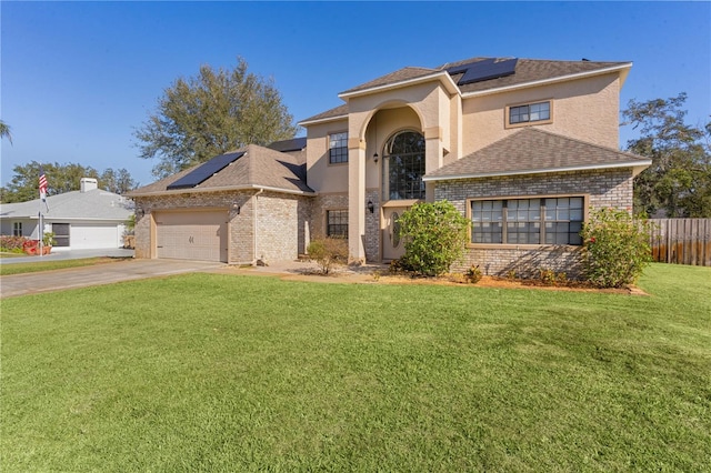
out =
[[[227,262],[227,211],[156,213],[158,258]]]

